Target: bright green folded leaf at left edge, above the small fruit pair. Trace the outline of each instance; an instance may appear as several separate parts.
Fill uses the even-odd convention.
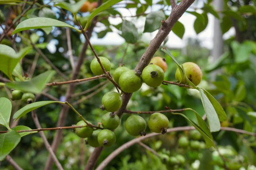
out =
[[[31,47],[26,47],[16,53],[11,47],[0,44],[0,71],[3,71],[12,80],[14,68],[30,49]]]

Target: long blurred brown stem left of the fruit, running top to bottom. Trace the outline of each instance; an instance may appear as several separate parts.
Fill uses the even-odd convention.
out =
[[[98,0],[98,6],[100,6],[101,4],[102,4],[102,0]],[[98,16],[93,18],[92,24],[91,24],[90,28],[87,31],[88,38],[90,38],[91,35],[92,35],[93,28],[95,26],[94,21],[97,20],[97,17]],[[76,65],[75,70],[73,71],[73,74],[72,74],[72,80],[75,80],[78,77],[81,66],[83,65],[84,56],[85,56],[85,52],[87,50],[87,47],[88,47],[88,42],[86,41],[86,42],[84,42],[83,48],[81,49],[81,52],[79,54],[77,65]],[[75,87],[76,86],[75,86],[74,83],[72,83],[68,86],[67,93],[65,95],[67,102],[71,101],[72,94],[74,93]],[[63,106],[61,108],[61,113],[59,114],[59,117],[58,117],[57,126],[64,126],[65,125],[65,120],[67,119],[68,111],[69,111],[68,106]],[[62,138],[62,130],[58,130],[55,133],[55,136],[54,136],[54,139],[53,139],[53,142],[52,142],[52,149],[53,149],[54,152],[57,151],[58,145],[61,142],[61,138]],[[52,164],[53,164],[52,158],[51,158],[51,156],[49,156],[48,159],[47,159],[47,163],[45,164],[44,170],[51,170],[52,169]]]

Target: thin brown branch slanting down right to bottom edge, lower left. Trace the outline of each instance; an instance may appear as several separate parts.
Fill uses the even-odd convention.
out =
[[[41,129],[41,125],[40,125],[40,122],[38,120],[38,117],[35,113],[35,111],[32,111],[32,118],[35,122],[35,126],[38,128],[38,129]],[[45,147],[47,148],[47,150],[49,151],[50,155],[52,156],[52,159],[53,161],[55,162],[56,166],[58,167],[59,170],[64,170],[63,167],[61,166],[60,162],[58,161],[57,157],[55,156],[55,153],[53,152],[52,150],[52,147],[51,145],[49,144],[49,142],[47,141],[47,138],[46,136],[44,135],[44,132],[40,131],[39,132],[40,136],[42,137],[43,141],[44,141],[44,144],[45,144]]]

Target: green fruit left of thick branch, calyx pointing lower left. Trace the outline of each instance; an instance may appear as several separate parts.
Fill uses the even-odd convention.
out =
[[[106,110],[109,112],[115,112],[122,106],[121,94],[110,91],[102,97],[102,111]]]

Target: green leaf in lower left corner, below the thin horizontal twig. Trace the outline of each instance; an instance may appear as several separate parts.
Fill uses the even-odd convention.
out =
[[[0,135],[0,161],[17,146],[20,142],[20,134],[15,130]]]

